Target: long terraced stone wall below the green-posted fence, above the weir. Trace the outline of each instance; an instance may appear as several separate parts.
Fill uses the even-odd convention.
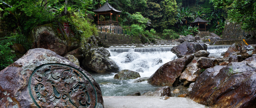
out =
[[[98,32],[101,43],[104,46],[113,44],[141,44],[140,37],[126,34]]]

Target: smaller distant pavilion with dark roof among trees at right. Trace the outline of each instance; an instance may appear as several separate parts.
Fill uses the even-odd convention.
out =
[[[198,30],[202,31],[202,30],[206,30],[207,22],[209,21],[206,21],[201,19],[200,17],[197,17],[194,22],[190,22],[189,24],[191,25],[191,27],[198,26]]]

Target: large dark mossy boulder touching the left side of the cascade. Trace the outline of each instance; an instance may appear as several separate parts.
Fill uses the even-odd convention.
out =
[[[118,73],[116,63],[98,49],[88,49],[83,54],[83,67],[95,73]]]

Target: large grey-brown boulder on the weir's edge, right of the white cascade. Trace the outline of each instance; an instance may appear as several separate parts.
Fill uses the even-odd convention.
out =
[[[179,44],[177,46],[174,46],[171,51],[177,55],[177,57],[181,58],[186,55],[190,55],[193,53],[196,53],[200,50],[207,50],[207,45],[204,43],[189,43],[189,42],[183,42],[182,44]]]

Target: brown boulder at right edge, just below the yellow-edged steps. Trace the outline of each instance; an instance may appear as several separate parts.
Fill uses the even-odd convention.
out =
[[[256,54],[256,44],[255,45],[244,45],[240,47],[240,54],[242,58],[251,57],[252,54]]]

